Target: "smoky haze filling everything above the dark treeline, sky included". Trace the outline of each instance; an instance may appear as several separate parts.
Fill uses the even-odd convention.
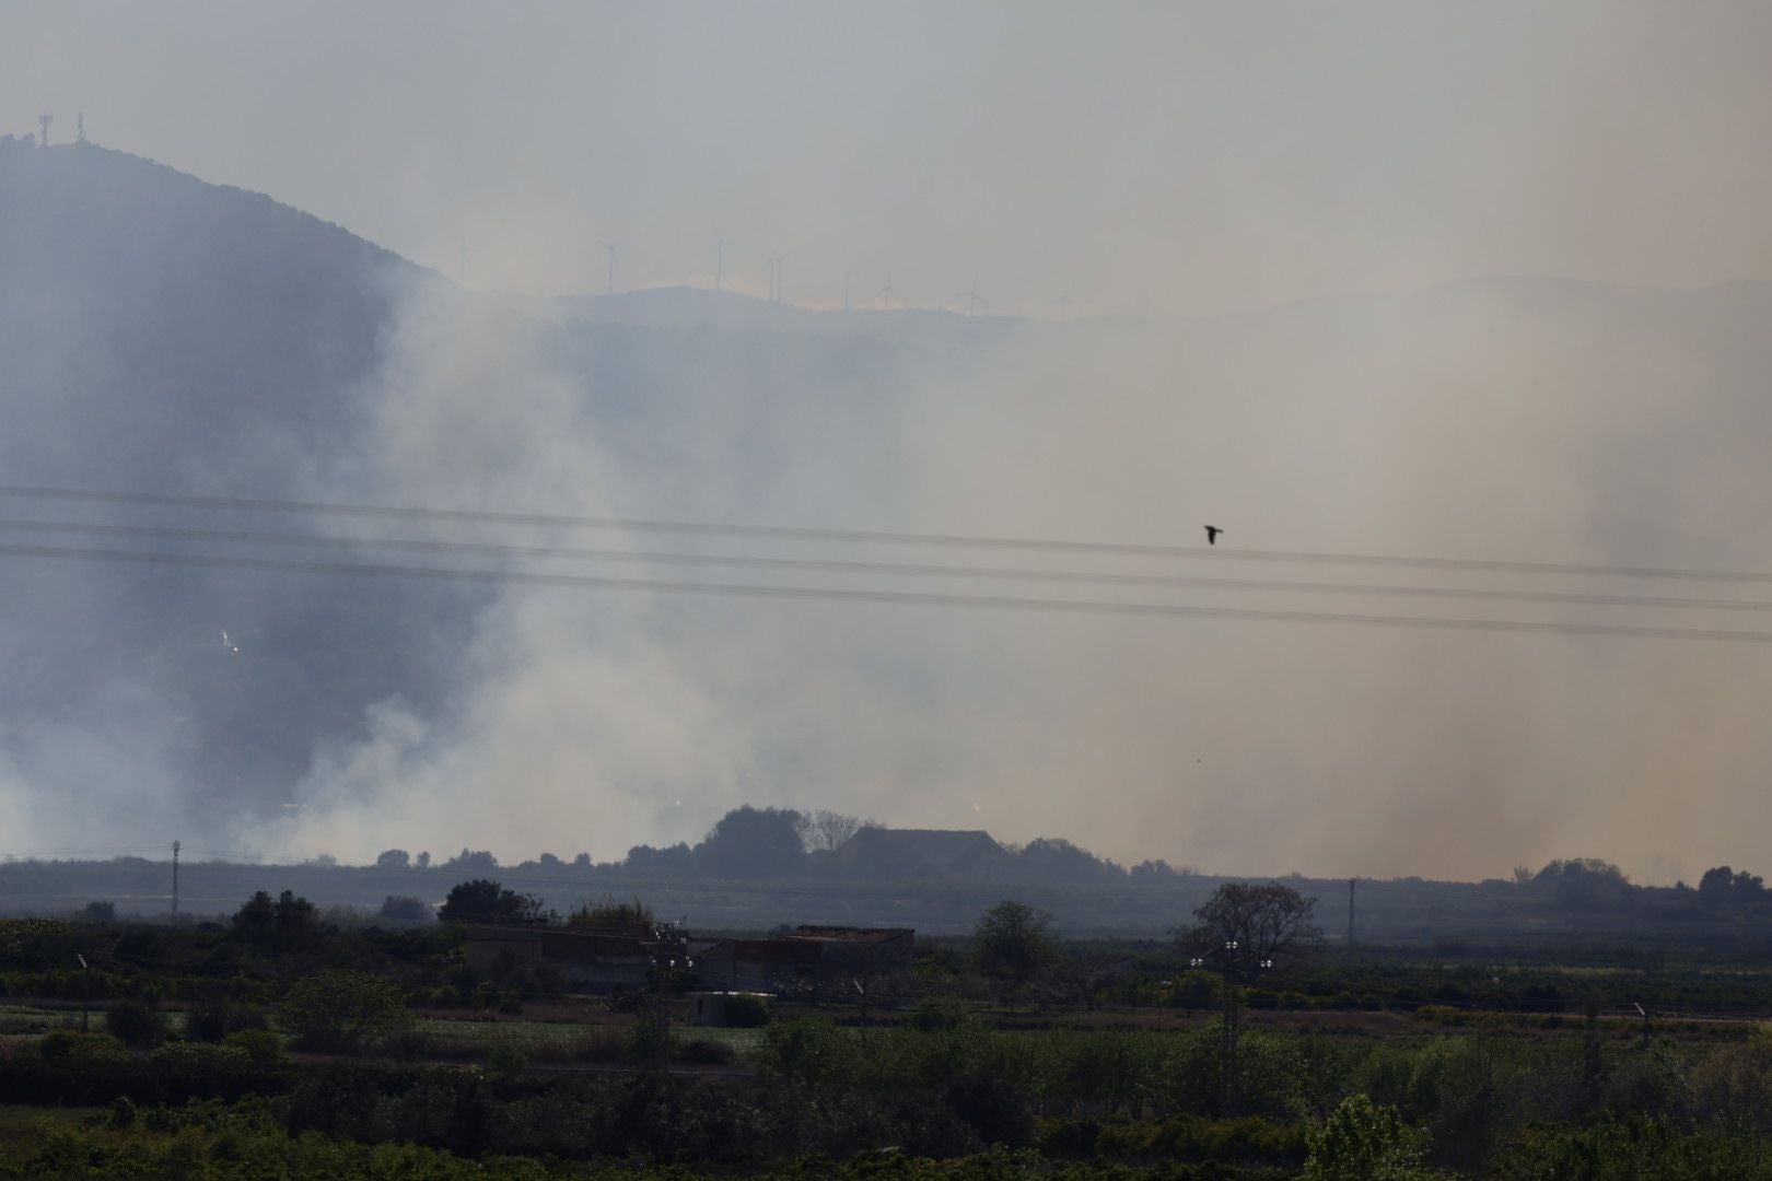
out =
[[[0,852],[1760,862],[1765,9],[310,12],[0,9]]]

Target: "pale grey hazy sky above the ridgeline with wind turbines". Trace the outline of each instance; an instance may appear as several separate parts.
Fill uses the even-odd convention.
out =
[[[1187,313],[1772,273],[1763,4],[5,4],[0,126],[473,285]]]

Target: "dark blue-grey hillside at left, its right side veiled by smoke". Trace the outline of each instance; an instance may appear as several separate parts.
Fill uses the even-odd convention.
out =
[[[259,193],[89,143],[4,143],[0,482],[312,496],[312,475],[363,428],[393,292],[427,280]],[[0,515],[195,524],[16,498]],[[289,577],[28,558],[0,558],[0,590],[16,774],[85,809],[128,802],[156,838],[275,809],[317,735],[353,731],[388,692],[424,698],[436,668],[402,643],[424,629],[409,607],[461,604],[402,588],[338,611]],[[220,659],[223,629],[250,662]],[[381,655],[342,668],[340,652]],[[94,827],[115,839],[105,811]]]

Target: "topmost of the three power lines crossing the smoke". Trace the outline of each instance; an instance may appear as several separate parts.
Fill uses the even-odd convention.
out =
[[[1079,554],[1122,554],[1143,558],[1212,558],[1216,561],[1279,561],[1366,565],[1423,570],[1490,570],[1512,574],[1582,574],[1595,577],[1648,577],[1715,583],[1772,583],[1772,572],[1694,570],[1675,567],[1613,567],[1559,561],[1512,561],[1497,558],[1411,558],[1402,554],[1352,554],[1274,549],[1226,549],[1205,545],[1164,545],[1146,542],[1092,542],[1076,538],[989,536],[966,533],[904,533],[890,529],[838,529],[780,524],[719,524],[696,521],[654,521],[641,517],[587,517],[569,513],[500,512],[477,508],[424,508],[399,505],[347,505],[331,501],[284,501],[237,496],[195,496],[175,492],[108,492],[92,489],[51,489],[35,485],[0,485],[0,496],[43,501],[80,501],[103,505],[154,505],[161,508],[206,508],[229,512],[296,512],[340,517],[392,517],[408,521],[454,521],[482,524],[521,524],[569,529],[629,529],[634,533],[680,533],[696,536],[771,536],[808,542],[858,542],[893,545],[948,545],[973,549],[1060,551]]]

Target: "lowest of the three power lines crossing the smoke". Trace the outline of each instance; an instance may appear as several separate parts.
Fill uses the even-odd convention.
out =
[[[296,574],[335,574],[361,577],[462,579],[478,583],[517,583],[530,586],[680,591],[695,595],[730,595],[746,598],[789,598],[828,602],[872,602],[936,607],[980,607],[999,611],[1053,611],[1069,614],[1177,616],[1200,620],[1249,620],[1278,623],[1343,623],[1356,627],[1414,627],[1458,632],[1513,632],[1609,636],[1627,639],[1772,643],[1772,632],[1714,630],[1689,627],[1627,627],[1613,623],[1554,623],[1533,620],[1471,620],[1400,614],[1341,614],[1333,611],[1271,611],[1255,607],[1201,607],[1187,604],[1134,604],[1077,598],[1017,598],[1010,595],[959,595],[932,591],[891,591],[813,586],[758,586],[744,583],[686,583],[677,579],[634,579],[588,574],[539,574],[519,570],[450,570],[438,567],[392,567],[347,561],[292,561],[278,558],[227,558],[209,554],[168,554],[119,549],[64,549],[55,545],[0,544],[0,554],[66,558],[85,561],[133,561],[165,567],[218,567],[237,570],[282,570]]]

